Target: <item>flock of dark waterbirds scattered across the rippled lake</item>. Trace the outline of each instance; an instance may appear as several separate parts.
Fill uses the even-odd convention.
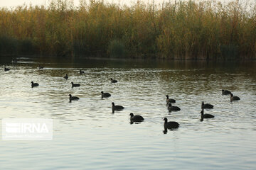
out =
[[[43,69],[44,67],[39,66],[38,69]],[[9,71],[9,68],[4,67],[4,72]],[[79,71],[80,74],[84,74],[85,72],[83,72],[81,69]],[[65,74],[65,77],[63,77],[64,79],[68,80],[68,74]],[[117,83],[117,80],[115,79],[110,79],[111,83]],[[71,82],[72,84],[72,88],[73,87],[78,87],[80,86],[80,84],[74,84],[73,82]],[[39,86],[38,83],[34,83],[33,81],[31,81],[31,87],[36,87]],[[239,101],[240,98],[238,96],[233,96],[233,94],[231,93],[231,91],[228,90],[222,90],[222,95],[230,95],[230,101]],[[111,94],[109,93],[104,93],[103,91],[101,91],[101,96],[102,98],[109,98],[111,96]],[[69,101],[78,101],[80,98],[78,98],[77,96],[72,96],[71,94],[69,94]],[[173,106],[171,103],[176,103],[176,100],[174,98],[169,98],[169,95],[166,95],[166,106],[169,112],[171,111],[181,111],[181,108],[179,108],[178,106]],[[214,115],[211,114],[204,114],[204,109],[212,109],[213,105],[209,104],[209,103],[204,103],[204,101],[202,101],[201,104],[201,121],[204,118],[214,118]],[[122,111],[124,110],[123,106],[118,106],[115,105],[114,102],[112,102],[112,113],[114,113],[114,111]],[[134,115],[133,113],[130,113],[130,120],[131,123],[140,123],[142,121],[144,121],[144,118],[141,115]],[[164,132],[167,131],[167,129],[169,130],[175,130],[179,127],[179,124],[177,122],[174,121],[169,121],[167,120],[167,118],[164,118]]]

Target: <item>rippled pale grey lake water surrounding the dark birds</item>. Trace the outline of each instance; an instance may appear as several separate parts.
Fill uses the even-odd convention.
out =
[[[17,61],[0,65],[0,118],[53,119],[53,140],[0,140],[1,169],[256,168],[256,62]],[[166,94],[181,111],[169,113]],[[215,118],[200,121],[202,101]],[[112,102],[124,110],[112,113]],[[130,124],[129,113],[144,122]],[[164,134],[163,118],[180,128]]]

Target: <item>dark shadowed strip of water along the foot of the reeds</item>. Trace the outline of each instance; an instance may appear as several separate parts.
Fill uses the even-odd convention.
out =
[[[37,61],[34,64],[36,64],[36,67],[39,65],[43,65],[44,67],[48,67],[48,63],[63,63],[63,64],[75,64],[78,65],[78,67],[82,67],[84,64],[87,65],[87,67],[92,67],[94,65],[93,63],[100,62],[102,65],[105,65],[106,63],[113,63],[114,67],[120,66],[128,67],[129,64],[134,65],[134,63],[142,64],[147,62],[154,62],[156,65],[161,66],[167,66],[169,64],[186,64],[186,65],[198,65],[198,67],[204,67],[206,64],[213,64],[215,66],[217,65],[225,65],[225,64],[239,64],[239,63],[245,63],[245,64],[252,64],[254,67],[254,64],[256,60],[181,60],[181,59],[166,59],[166,58],[157,58],[157,57],[133,57],[133,58],[114,58],[114,57],[58,57],[58,56],[45,56],[45,55],[13,55],[13,56],[1,56],[0,55],[0,64],[5,65],[12,65],[12,64],[22,64],[30,61]],[[50,67],[50,66],[49,66]],[[95,66],[96,67],[96,66]]]

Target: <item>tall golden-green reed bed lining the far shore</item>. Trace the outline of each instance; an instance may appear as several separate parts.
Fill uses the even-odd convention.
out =
[[[0,54],[255,58],[255,10],[238,1],[138,1],[130,7],[90,1],[74,7],[56,0],[49,8],[1,8]]]

